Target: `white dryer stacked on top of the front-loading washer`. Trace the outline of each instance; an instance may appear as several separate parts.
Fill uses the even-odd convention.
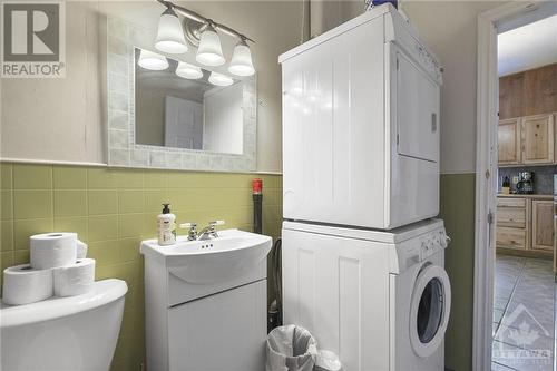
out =
[[[285,218],[390,230],[438,215],[441,71],[391,4],[278,60]]]

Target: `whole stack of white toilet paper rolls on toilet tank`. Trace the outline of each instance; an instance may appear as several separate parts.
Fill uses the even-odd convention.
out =
[[[52,295],[75,296],[88,292],[95,282],[95,260],[87,258],[87,245],[76,233],[31,236],[31,263],[3,271],[2,302],[21,305]]]

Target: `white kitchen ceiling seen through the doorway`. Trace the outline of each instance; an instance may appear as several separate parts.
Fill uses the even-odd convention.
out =
[[[557,62],[557,14],[498,36],[499,76]]]

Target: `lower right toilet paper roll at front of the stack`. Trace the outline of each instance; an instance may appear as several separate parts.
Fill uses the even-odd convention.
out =
[[[56,296],[81,295],[91,290],[95,282],[95,260],[81,258],[67,266],[52,270]]]

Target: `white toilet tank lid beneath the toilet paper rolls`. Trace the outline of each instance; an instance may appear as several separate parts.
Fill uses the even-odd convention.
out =
[[[92,310],[120,299],[127,291],[125,281],[110,279],[95,282],[91,291],[82,295],[51,296],[25,305],[0,304],[0,329],[50,321]]]

